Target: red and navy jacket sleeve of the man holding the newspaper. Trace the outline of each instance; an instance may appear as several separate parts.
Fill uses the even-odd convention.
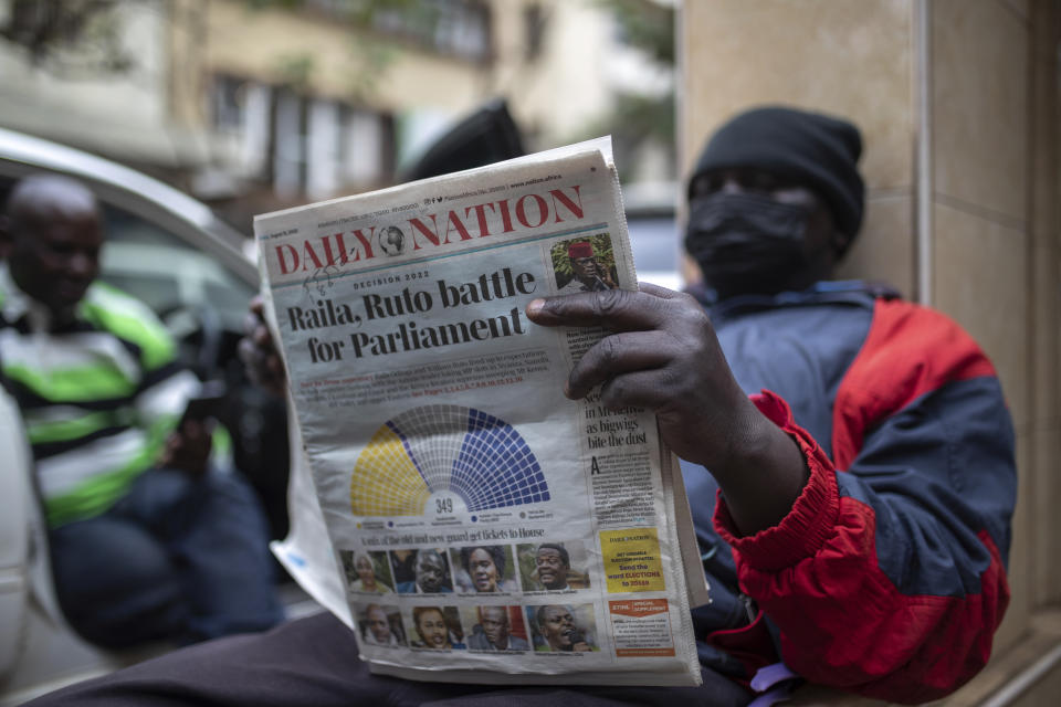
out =
[[[1013,433],[994,368],[957,325],[879,302],[833,407],[833,460],[764,391],[810,478],[780,524],[715,526],[742,590],[811,682],[870,697],[942,697],[987,662],[1009,600]],[[842,471],[838,471],[842,469]]]

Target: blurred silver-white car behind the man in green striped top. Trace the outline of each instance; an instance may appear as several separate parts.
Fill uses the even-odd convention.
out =
[[[0,129],[0,204],[19,179],[39,173],[73,177],[96,194],[106,228],[101,279],[146,302],[200,379],[225,382],[219,418],[232,435],[237,466],[262,498],[273,537],[283,537],[284,404],[251,384],[237,358],[248,300],[258,291],[253,242],[206,204],[141,172]],[[99,651],[65,626],[51,590],[18,410],[10,400],[0,402],[0,705],[6,705],[144,655]]]

